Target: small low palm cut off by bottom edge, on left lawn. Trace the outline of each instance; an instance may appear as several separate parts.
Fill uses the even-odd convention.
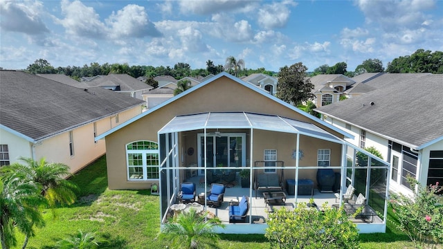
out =
[[[100,243],[104,241],[97,239],[96,232],[78,232],[67,238],[57,242],[57,248],[60,249],[94,249],[98,248]]]

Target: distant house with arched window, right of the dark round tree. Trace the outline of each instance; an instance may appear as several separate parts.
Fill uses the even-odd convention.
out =
[[[344,91],[355,84],[354,80],[341,74],[316,75],[311,77],[310,80],[314,84],[312,93],[316,95],[316,98],[313,100],[316,107],[323,107],[338,102]]]

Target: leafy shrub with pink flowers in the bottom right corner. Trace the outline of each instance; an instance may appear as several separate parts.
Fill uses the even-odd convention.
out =
[[[423,187],[408,178],[413,196],[391,194],[390,206],[399,221],[399,230],[405,232],[416,248],[436,248],[443,241],[443,187],[439,183]]]

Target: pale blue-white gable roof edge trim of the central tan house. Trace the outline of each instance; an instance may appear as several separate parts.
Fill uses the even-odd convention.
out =
[[[118,131],[119,129],[122,129],[123,127],[127,126],[128,124],[131,124],[132,122],[135,122],[136,120],[139,120],[139,119],[143,118],[144,116],[147,116],[150,113],[152,113],[158,109],[161,109],[162,107],[165,107],[166,105],[178,100],[179,98],[183,98],[183,96],[186,96],[194,91],[198,91],[198,89],[200,89],[201,87],[204,87],[207,84],[210,84],[211,82],[214,82],[215,80],[218,80],[221,77],[228,77],[230,80],[233,80],[234,82],[237,82],[238,84],[242,84],[242,86],[245,86],[246,88],[251,89],[251,91],[255,91],[256,93],[259,93],[259,94],[263,95],[264,97],[269,98],[271,101],[278,102],[279,104],[282,104],[284,107],[287,107],[293,111],[296,111],[297,113],[300,113],[300,115],[305,116],[305,117],[309,118],[310,120],[313,120],[314,122],[318,122],[320,124],[323,124],[325,127],[328,127],[329,129],[332,129],[333,131],[341,133],[343,136],[346,136],[347,138],[354,137],[350,133],[347,133],[346,131],[343,131],[341,129],[338,129],[337,127],[334,127],[332,124],[329,124],[323,120],[320,120],[314,116],[311,116],[309,113],[305,113],[304,111],[301,111],[300,109],[294,107],[293,105],[288,104],[287,102],[284,102],[278,98],[275,98],[273,95],[270,95],[269,93],[266,93],[265,91],[262,91],[262,89],[257,88],[253,84],[250,84],[248,82],[244,82],[244,81],[240,80],[239,78],[237,78],[233,75],[230,75],[229,73],[221,72],[221,73],[215,75],[214,77],[211,77],[210,79],[208,79],[204,82],[201,82],[200,84],[197,84],[197,86],[193,86],[192,88],[184,91],[183,93],[180,93],[179,95],[175,95],[173,98],[170,98],[169,100],[166,100],[165,102],[162,102],[161,104],[156,105],[152,109],[149,109],[149,110],[139,114],[138,116],[136,116],[130,120],[127,120],[126,122],[123,122],[122,124],[119,124],[117,127],[114,127],[113,129],[110,129],[109,131],[106,131],[105,133],[100,134],[99,136],[96,137],[96,140],[100,140],[102,138],[105,138],[109,134],[114,133],[115,131]]]

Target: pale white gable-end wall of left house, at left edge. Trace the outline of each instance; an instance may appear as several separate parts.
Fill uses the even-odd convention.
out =
[[[8,145],[9,163],[20,163],[19,157],[32,158],[32,144],[0,128],[0,145]]]

